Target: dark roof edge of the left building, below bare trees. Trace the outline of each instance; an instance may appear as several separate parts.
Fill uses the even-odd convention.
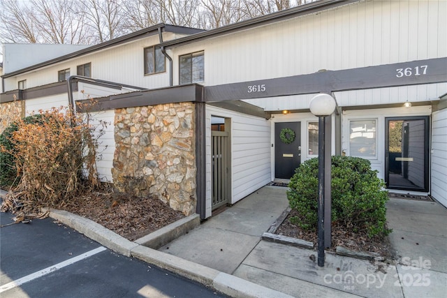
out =
[[[2,77],[13,77],[15,75],[20,75],[21,73],[26,73],[30,70],[35,70],[41,67],[50,66],[52,64],[59,63],[61,61],[66,61],[68,59],[73,59],[76,57],[83,56],[85,54],[90,54],[92,52],[96,52],[99,50],[104,50],[108,47],[114,47],[116,45],[120,45],[122,43],[129,43],[132,40],[137,40],[140,38],[145,38],[147,36],[154,36],[159,34],[159,31],[165,31],[165,32],[172,32],[172,33],[180,33],[180,34],[194,34],[203,31],[202,29],[195,29],[195,28],[189,28],[189,27],[180,27],[180,26],[173,26],[169,24],[156,24],[151,27],[147,27],[145,29],[141,29],[138,31],[135,31],[133,33],[126,34],[124,36],[120,36],[118,38],[114,38],[112,40],[105,41],[104,43],[99,43],[98,45],[92,45],[91,47],[87,47],[83,50],[79,50],[76,52],[73,52],[71,54],[66,54],[61,57],[57,57],[54,59],[50,59],[48,61],[44,61],[39,64],[34,64],[33,66],[29,66],[27,68],[22,68],[10,73],[5,73],[2,75]]]

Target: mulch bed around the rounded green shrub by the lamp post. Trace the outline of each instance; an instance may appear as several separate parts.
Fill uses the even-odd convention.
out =
[[[291,210],[286,219],[279,225],[275,234],[280,234],[286,237],[298,238],[306,241],[317,243],[317,232],[306,231],[294,225],[289,221],[291,216],[295,216],[296,211]],[[332,224],[332,246],[328,248],[329,251],[334,251],[337,246],[344,246],[351,251],[362,251],[369,253],[379,253],[385,258],[393,258],[393,248],[390,245],[388,237],[380,239],[379,237],[368,238],[366,233],[354,233],[351,230],[346,230],[339,225]]]

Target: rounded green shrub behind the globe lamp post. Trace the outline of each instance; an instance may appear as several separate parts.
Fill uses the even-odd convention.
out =
[[[386,202],[383,180],[363,158],[332,156],[332,223],[368,237],[385,236]],[[288,202],[298,216],[291,221],[305,230],[316,230],[318,221],[318,158],[302,163],[288,185]]]

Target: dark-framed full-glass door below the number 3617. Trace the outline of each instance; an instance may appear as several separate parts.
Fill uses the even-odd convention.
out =
[[[387,188],[428,191],[429,117],[386,118]]]

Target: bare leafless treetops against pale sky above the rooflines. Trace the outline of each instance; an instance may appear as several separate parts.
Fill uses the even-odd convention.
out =
[[[214,29],[318,0],[0,0],[0,41],[102,43],[154,24]]]

